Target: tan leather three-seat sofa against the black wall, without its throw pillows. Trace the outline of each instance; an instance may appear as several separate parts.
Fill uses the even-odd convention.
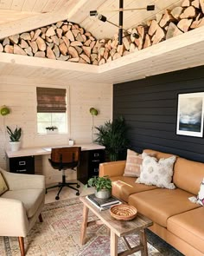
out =
[[[156,158],[173,154],[145,149]],[[173,182],[175,189],[158,188],[135,183],[137,178],[125,177],[125,161],[100,164],[99,175],[112,179],[112,194],[137,207],[151,220],[150,230],[187,256],[204,255],[204,207],[188,200],[197,196],[204,178],[204,163],[176,158]]]

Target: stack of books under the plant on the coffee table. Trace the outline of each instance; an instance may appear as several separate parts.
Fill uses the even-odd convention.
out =
[[[100,211],[111,208],[113,205],[121,204],[122,202],[118,200],[115,196],[111,196],[107,199],[98,198],[95,194],[88,194],[86,199],[92,202],[95,207],[98,207]]]

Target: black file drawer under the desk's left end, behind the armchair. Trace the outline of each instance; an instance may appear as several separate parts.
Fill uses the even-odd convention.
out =
[[[34,156],[13,157],[9,159],[11,173],[35,174]]]

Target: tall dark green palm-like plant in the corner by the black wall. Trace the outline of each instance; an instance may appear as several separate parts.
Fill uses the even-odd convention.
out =
[[[96,133],[95,142],[105,146],[105,151],[108,154],[110,161],[117,161],[129,146],[127,139],[128,127],[124,121],[123,116],[113,121],[105,121],[104,125],[96,127],[98,133]]]

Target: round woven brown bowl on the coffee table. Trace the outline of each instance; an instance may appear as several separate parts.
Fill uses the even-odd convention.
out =
[[[125,204],[112,206],[110,211],[112,217],[116,220],[133,220],[137,215],[136,207]]]

